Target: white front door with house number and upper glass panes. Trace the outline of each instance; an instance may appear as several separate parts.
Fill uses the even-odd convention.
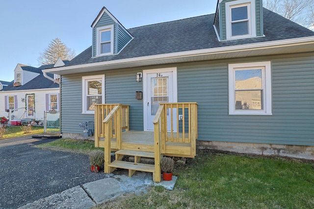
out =
[[[177,102],[177,68],[143,70],[144,131],[154,130],[153,120],[159,103]],[[167,110],[167,129],[170,131],[170,112]],[[173,129],[177,127],[177,114],[173,113]]]

